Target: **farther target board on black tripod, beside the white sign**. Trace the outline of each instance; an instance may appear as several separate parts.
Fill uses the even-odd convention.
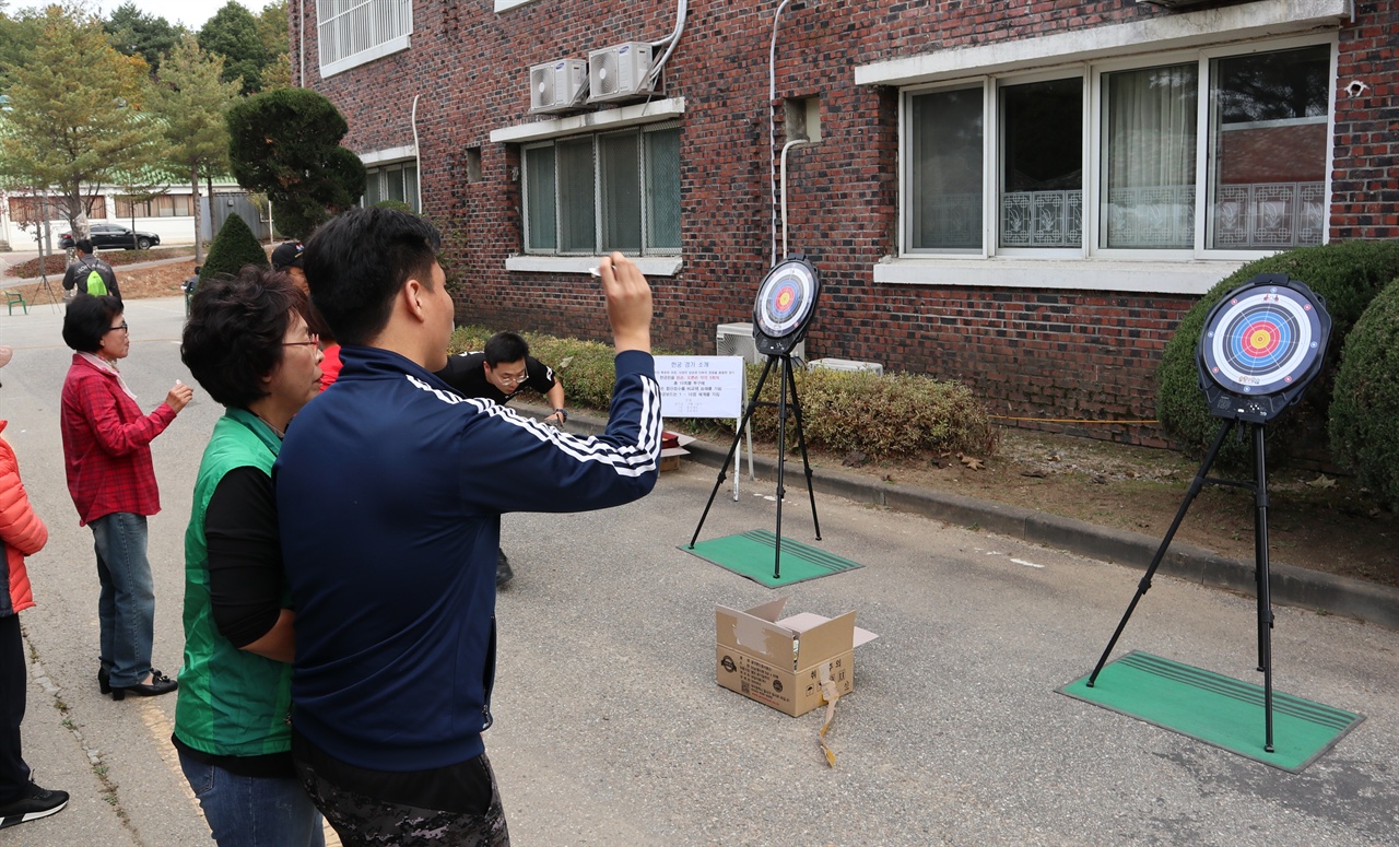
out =
[[[768,276],[764,277],[762,286],[758,287],[758,297],[753,304],[753,340],[758,353],[767,356],[768,361],[762,365],[762,375],[758,377],[758,382],[753,388],[753,396],[743,410],[743,420],[739,421],[739,428],[734,430],[729,454],[719,463],[719,477],[713,480],[713,490],[709,491],[709,500],[704,505],[704,514],[700,515],[700,524],[695,525],[695,532],[690,536],[690,549],[694,550],[695,540],[700,538],[700,529],[704,526],[705,518],[709,517],[709,507],[713,505],[719,486],[727,477],[729,462],[733,461],[733,452],[739,448],[743,431],[753,419],[753,413],[760,406],[776,406],[778,510],[772,553],[774,580],[782,578],[782,500],[786,496],[786,424],[789,414],[796,423],[796,442],[802,449],[802,466],[806,472],[806,490],[811,498],[811,524],[816,528],[816,540],[821,540],[821,522],[816,517],[816,489],[811,486],[811,459],[806,452],[806,433],[802,430],[802,403],[796,396],[796,377],[792,371],[792,350],[806,336],[807,326],[811,323],[813,315],[816,315],[816,301],[820,293],[821,283],[816,276],[816,267],[802,258],[790,258],[774,266],[768,272]],[[776,403],[758,399],[762,396],[762,385],[767,382],[768,374],[772,372],[772,365],[779,365],[781,370],[778,375]],[[788,402],[788,392],[792,395],[790,403]]]

